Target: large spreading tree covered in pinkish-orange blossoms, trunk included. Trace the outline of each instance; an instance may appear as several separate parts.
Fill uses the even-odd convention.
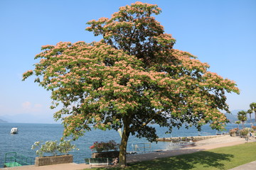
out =
[[[36,75],[52,91],[54,115],[63,119],[64,137],[77,138],[90,125],[122,128],[119,164],[126,165],[129,135],[157,138],[152,121],[171,132],[173,127],[210,123],[215,129],[228,122],[225,92],[239,93],[234,81],[208,72],[209,65],[173,48],[154,15],[156,5],[136,2],[119,8],[111,18],[89,21],[86,30],[102,35],[100,42],[59,42],[45,45],[41,59],[23,79]]]

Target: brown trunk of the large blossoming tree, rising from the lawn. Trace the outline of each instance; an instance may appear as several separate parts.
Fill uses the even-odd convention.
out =
[[[119,165],[121,167],[127,166],[126,153],[127,153],[127,142],[129,139],[129,123],[127,120],[123,120],[124,131],[122,132],[121,145],[119,147]]]

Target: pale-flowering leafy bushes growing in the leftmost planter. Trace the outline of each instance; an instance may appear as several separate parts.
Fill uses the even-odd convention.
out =
[[[36,149],[38,147],[38,149],[36,150],[36,154],[39,157],[43,157],[44,153],[50,153],[53,154],[53,156],[56,156],[58,152],[68,154],[68,152],[75,149],[75,145],[71,145],[70,142],[70,140],[64,140],[59,144],[57,143],[57,140],[46,141],[45,144],[41,144],[41,142],[35,142],[34,145],[32,145],[31,149]]]

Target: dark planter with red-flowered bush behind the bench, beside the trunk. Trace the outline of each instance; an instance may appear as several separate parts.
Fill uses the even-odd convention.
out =
[[[96,152],[92,153],[92,158],[116,158],[119,157],[119,144],[110,140],[109,142],[94,142],[90,149]]]

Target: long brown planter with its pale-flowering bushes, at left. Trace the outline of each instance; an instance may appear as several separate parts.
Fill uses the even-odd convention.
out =
[[[57,141],[46,141],[45,144],[41,144],[41,142],[35,142],[31,147],[31,149],[36,149],[36,147],[38,147],[36,154],[39,157],[36,157],[35,165],[44,166],[50,164],[72,163],[73,155],[68,154],[68,152],[75,149],[75,145],[71,145],[70,142],[70,140],[64,140],[59,144]],[[58,152],[60,152],[62,155],[58,155]],[[45,153],[52,155],[44,157]]]

